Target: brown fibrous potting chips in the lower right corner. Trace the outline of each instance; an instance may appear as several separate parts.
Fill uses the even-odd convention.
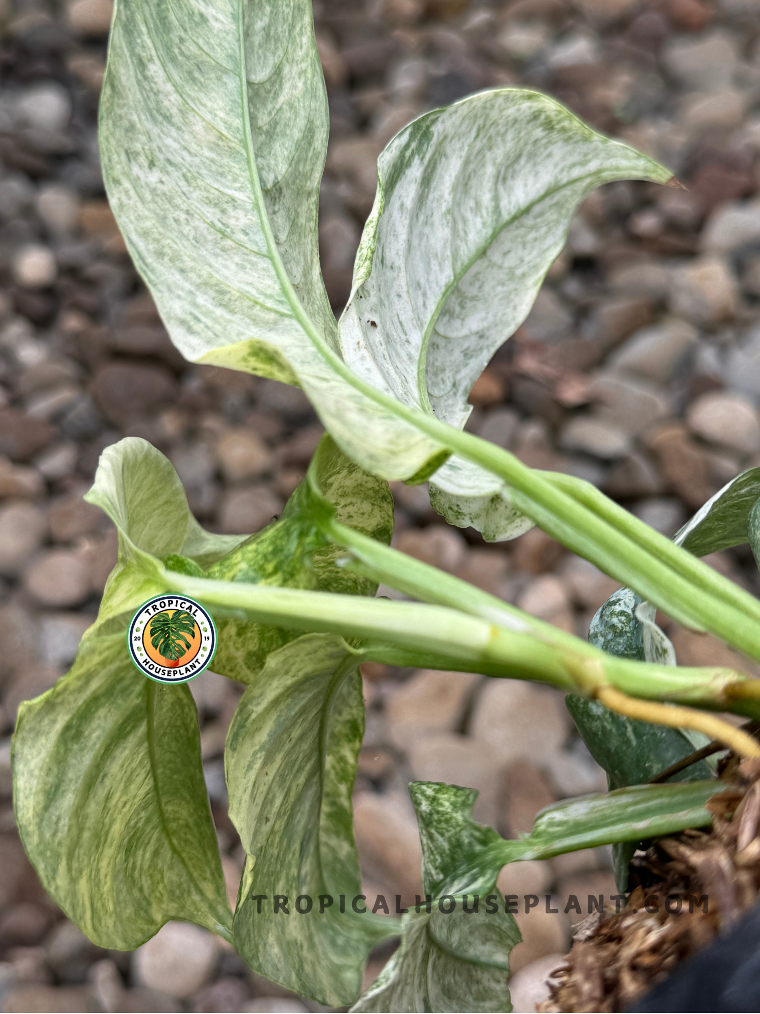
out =
[[[721,777],[733,787],[707,803],[712,830],[686,830],[635,854],[626,907],[608,907],[577,927],[539,1011],[626,1010],[755,903],[760,760],[730,756]]]

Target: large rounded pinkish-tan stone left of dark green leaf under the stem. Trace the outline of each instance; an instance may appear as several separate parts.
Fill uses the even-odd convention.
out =
[[[560,694],[520,679],[492,679],[473,710],[470,735],[487,743],[499,764],[518,758],[544,763],[561,749],[569,716]]]

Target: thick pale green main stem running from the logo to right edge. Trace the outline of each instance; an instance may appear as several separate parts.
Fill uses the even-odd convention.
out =
[[[201,599],[212,610],[216,606],[215,611],[288,630],[368,640],[358,652],[366,659],[540,680],[587,695],[609,683],[631,697],[750,717],[760,707],[750,698],[729,695],[730,689],[748,681],[731,669],[675,668],[616,658],[550,627],[553,638],[441,605],[214,581],[175,571],[165,571],[165,580],[169,588]]]

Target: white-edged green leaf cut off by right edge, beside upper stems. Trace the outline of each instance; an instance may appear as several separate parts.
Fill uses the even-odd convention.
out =
[[[760,499],[760,468],[732,479],[699,508],[673,539],[695,557],[750,541],[750,511]]]

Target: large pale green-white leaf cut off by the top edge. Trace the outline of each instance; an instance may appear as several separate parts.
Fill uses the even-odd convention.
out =
[[[344,449],[387,478],[440,462],[338,354],[318,260],[328,114],[309,0],[118,0],[99,126],[111,208],[187,359],[300,384]]]

